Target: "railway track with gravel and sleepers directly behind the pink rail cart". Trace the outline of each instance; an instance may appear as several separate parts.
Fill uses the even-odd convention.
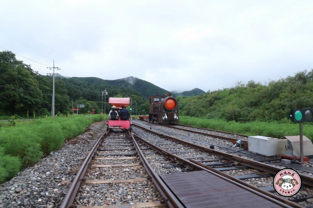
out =
[[[126,174],[119,174],[121,172]],[[148,177],[147,173],[153,177]],[[105,196],[100,196],[98,201],[89,200],[90,195],[99,195],[101,191]],[[143,197],[141,192],[148,192],[149,196]],[[131,139],[130,132],[112,131],[106,132],[98,139],[59,207],[135,204],[136,202],[140,205],[134,207],[167,207],[161,195],[166,197],[166,202],[171,207],[182,207],[153,172],[147,159],[142,157],[142,152],[134,139]]]

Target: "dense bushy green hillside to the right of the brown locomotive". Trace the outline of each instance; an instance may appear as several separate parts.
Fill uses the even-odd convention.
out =
[[[254,81],[195,97],[177,97],[181,115],[236,122],[290,123],[295,108],[313,107],[313,70],[261,85]],[[312,123],[308,123],[311,125]]]

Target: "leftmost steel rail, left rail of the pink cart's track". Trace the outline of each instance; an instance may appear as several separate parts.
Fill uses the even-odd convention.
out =
[[[94,156],[97,148],[99,147],[101,141],[102,141],[102,137],[106,134],[108,134],[109,131],[106,131],[105,133],[103,133],[100,138],[98,139],[98,141],[95,143],[94,147],[91,149],[91,151],[89,152],[89,154],[87,155],[87,157],[85,158],[83,164],[80,166],[79,171],[77,172],[75,178],[73,179],[73,182],[71,184],[71,186],[69,187],[69,190],[67,191],[62,204],[60,205],[60,208],[68,208],[69,206],[72,206],[76,193],[78,191],[78,188],[82,182],[82,179],[85,175],[85,172],[88,168],[88,164],[90,163],[92,157]]]

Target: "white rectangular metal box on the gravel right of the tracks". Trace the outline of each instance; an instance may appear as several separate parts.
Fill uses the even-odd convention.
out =
[[[276,155],[276,138],[251,136],[249,137],[248,150],[265,156]]]

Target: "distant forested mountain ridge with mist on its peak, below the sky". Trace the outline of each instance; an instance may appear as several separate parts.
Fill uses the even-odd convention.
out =
[[[70,80],[83,81],[93,85],[111,85],[123,88],[131,88],[142,94],[144,98],[149,98],[151,95],[165,95],[171,90],[162,89],[148,81],[141,80],[139,78],[130,76],[117,80],[103,80],[97,77],[71,77]],[[190,91],[184,91],[177,93],[172,91],[172,96],[196,96],[199,94],[205,94],[205,92],[199,88],[192,89]]]

